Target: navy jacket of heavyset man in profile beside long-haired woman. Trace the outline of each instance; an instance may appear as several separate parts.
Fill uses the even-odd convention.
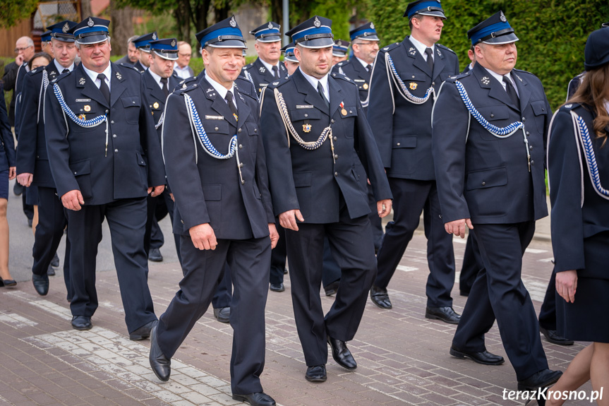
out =
[[[551,111],[540,80],[512,70],[519,106],[480,64],[442,86],[433,114],[433,160],[444,222],[471,218],[482,224],[538,220],[545,203],[545,140]],[[522,121],[529,138],[531,172],[524,134],[497,138],[471,117],[454,81],[464,85],[471,102],[500,128]],[[469,135],[468,135],[469,121]]]

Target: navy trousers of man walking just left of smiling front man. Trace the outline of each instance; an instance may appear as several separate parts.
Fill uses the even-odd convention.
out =
[[[82,205],[68,213],[71,242],[70,270],[74,316],[92,316],[97,309],[95,258],[102,241],[102,222],[108,221],[119,277],[121,299],[129,333],[155,321],[148,289],[148,261],[142,236],[146,225],[146,198],[120,199],[103,205]]]

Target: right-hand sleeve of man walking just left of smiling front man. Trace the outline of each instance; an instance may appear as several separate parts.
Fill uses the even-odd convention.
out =
[[[141,79],[140,94],[142,95],[142,108],[140,109],[140,140],[148,157],[148,186],[161,186],[165,184],[165,167],[161,143],[155,129],[155,120],[145,92],[144,79]]]

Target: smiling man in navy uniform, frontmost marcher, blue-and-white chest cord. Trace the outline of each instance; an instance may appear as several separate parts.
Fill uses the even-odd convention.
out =
[[[165,106],[163,153],[176,199],[184,277],[152,330],[150,365],[169,380],[171,357],[212,301],[228,261],[235,294],[233,399],[275,405],[260,384],[265,304],[277,241],[267,186],[258,101],[234,87],[246,47],[234,16],[198,32],[205,73],[187,79]],[[186,104],[185,104],[186,103]]]

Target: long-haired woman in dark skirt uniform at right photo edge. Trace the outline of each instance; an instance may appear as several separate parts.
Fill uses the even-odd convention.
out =
[[[608,28],[591,33],[584,54],[586,76],[551,124],[548,176],[558,332],[592,344],[548,390],[548,406],[565,402],[552,391],[562,397],[588,380],[609,389]],[[609,405],[604,395],[598,405]]]

